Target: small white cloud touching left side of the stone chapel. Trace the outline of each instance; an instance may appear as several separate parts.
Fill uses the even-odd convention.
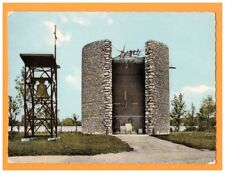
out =
[[[81,90],[81,70],[74,69],[66,76],[66,82],[71,84],[75,90]]]

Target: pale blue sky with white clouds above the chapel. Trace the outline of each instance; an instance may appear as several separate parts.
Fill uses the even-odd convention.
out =
[[[186,109],[198,111],[208,95],[215,99],[214,13],[169,12],[10,12],[8,13],[9,95],[15,96],[15,78],[24,66],[20,53],[54,53],[57,25],[59,118],[82,117],[81,62],[87,43],[109,39],[112,56],[140,49],[156,40],[169,48],[170,100],[183,93]]]

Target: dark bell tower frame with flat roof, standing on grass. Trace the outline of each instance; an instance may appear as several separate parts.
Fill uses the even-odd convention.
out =
[[[57,137],[56,59],[53,54],[20,54],[20,57],[25,64],[24,137],[34,137],[40,127],[44,127],[51,138]],[[38,82],[40,80],[45,83]],[[45,94],[40,95],[40,89]]]

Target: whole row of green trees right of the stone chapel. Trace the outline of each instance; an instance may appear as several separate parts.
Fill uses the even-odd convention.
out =
[[[200,108],[192,103],[190,110],[186,109],[184,95],[182,93],[174,95],[171,100],[170,126],[175,126],[175,131],[180,131],[180,127],[185,126],[187,131],[211,131],[216,127],[216,103],[212,96],[203,98]]]

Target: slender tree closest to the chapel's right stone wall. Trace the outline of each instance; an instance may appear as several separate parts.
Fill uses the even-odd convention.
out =
[[[174,125],[176,126],[176,130],[180,130],[180,124],[181,124],[181,118],[183,118],[185,114],[185,102],[183,99],[183,94],[174,95],[173,100],[171,101],[171,104],[173,106],[170,117],[172,121],[174,122]]]

